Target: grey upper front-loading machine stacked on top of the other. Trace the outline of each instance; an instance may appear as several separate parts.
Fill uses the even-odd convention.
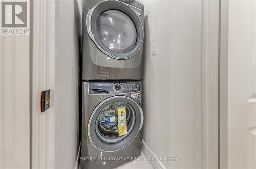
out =
[[[143,4],[84,0],[83,80],[141,80],[143,40]]]

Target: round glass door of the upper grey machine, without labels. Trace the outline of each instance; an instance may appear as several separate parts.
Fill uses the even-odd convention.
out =
[[[119,1],[103,1],[87,14],[87,31],[106,55],[115,59],[133,57],[143,44],[143,26],[131,7]]]

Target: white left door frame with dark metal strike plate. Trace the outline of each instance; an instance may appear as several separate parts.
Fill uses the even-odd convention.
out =
[[[31,5],[31,168],[55,167],[54,58],[55,0]],[[41,113],[41,91],[51,89],[50,108]]]

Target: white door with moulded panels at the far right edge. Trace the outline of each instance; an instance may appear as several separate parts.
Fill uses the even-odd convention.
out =
[[[256,168],[254,93],[255,1],[229,1],[228,168]]]

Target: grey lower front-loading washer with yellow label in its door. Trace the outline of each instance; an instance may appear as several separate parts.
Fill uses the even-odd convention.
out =
[[[138,157],[144,119],[141,82],[83,82],[83,93],[82,168],[114,168]],[[121,133],[123,122],[126,132]]]

